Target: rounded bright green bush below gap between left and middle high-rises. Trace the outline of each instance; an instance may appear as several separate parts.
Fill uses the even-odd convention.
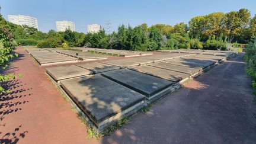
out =
[[[55,47],[62,47],[62,40],[58,40],[55,38],[48,38],[46,40],[41,41],[40,43],[37,44],[37,47],[39,48],[55,48]]]

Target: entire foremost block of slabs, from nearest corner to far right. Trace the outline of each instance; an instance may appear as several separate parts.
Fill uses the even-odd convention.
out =
[[[196,76],[204,67],[220,59],[218,56],[179,56],[167,60],[165,57],[160,62],[153,62],[150,57],[137,57],[139,62],[130,58],[130,62],[126,59],[83,63],[47,68],[46,72],[59,82],[62,91],[95,128],[103,130],[121,117],[174,91],[180,82]]]

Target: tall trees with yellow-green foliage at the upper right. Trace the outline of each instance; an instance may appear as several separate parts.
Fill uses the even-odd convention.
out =
[[[247,43],[255,34],[255,23],[248,9],[223,12],[213,12],[209,15],[191,18],[189,21],[190,37],[207,41],[210,36],[227,37],[229,43],[238,41]]]

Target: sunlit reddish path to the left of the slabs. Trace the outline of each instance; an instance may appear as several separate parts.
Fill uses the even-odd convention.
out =
[[[16,88],[11,94],[0,97],[2,142],[93,143],[93,139],[86,139],[84,124],[44,75],[44,68],[39,67],[22,47],[15,52],[20,58],[8,71],[24,76],[13,82]]]

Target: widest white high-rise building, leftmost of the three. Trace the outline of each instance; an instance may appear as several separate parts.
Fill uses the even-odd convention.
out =
[[[8,21],[18,25],[28,25],[38,30],[37,19],[27,15],[8,15]]]

